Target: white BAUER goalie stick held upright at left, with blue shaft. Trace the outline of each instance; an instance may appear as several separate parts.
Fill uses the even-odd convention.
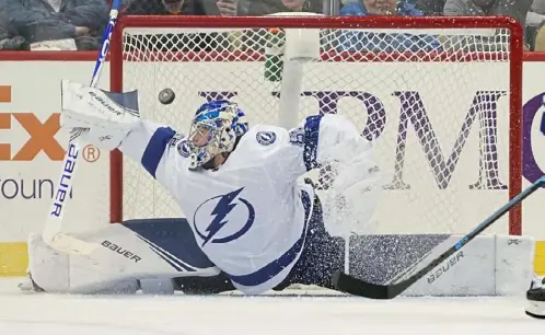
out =
[[[109,49],[109,39],[112,38],[112,32],[117,22],[120,4],[121,0],[114,0],[109,10],[109,22],[104,32],[102,46],[98,51],[93,76],[91,77],[91,86],[93,88],[96,86],[96,83],[98,82],[102,67],[106,60],[106,55]],[[72,178],[76,174],[76,168],[78,166],[80,151],[78,138],[85,131],[88,131],[88,129],[73,129],[70,132],[68,149],[65,154],[65,160],[62,161],[62,174],[57,183],[53,204],[42,232],[42,239],[53,249],[78,255],[89,255],[97,246],[95,243],[84,242],[60,232],[67,205],[65,200],[71,192]]]

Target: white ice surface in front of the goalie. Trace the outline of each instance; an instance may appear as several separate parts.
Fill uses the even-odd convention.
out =
[[[22,294],[0,279],[5,335],[502,335],[545,334],[523,297],[81,297]],[[461,334],[462,333],[462,334]]]

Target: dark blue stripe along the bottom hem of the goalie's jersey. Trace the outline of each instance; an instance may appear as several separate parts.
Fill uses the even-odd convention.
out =
[[[274,278],[281,270],[283,270],[295,259],[298,259],[298,256],[301,254],[303,250],[306,236],[306,228],[309,227],[309,220],[311,218],[311,209],[312,209],[311,197],[306,192],[301,190],[301,198],[304,207],[304,226],[303,226],[303,232],[301,233],[301,236],[297,240],[297,242],[279,258],[265,265],[255,273],[242,276],[234,276],[228,274],[231,280],[242,286],[258,286]]]

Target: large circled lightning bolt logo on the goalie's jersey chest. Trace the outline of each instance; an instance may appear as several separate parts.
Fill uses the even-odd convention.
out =
[[[255,219],[254,206],[246,199],[236,198],[243,189],[244,187],[241,187],[228,194],[216,196],[197,207],[193,217],[193,226],[199,238],[202,239],[202,246],[207,243],[234,241],[252,228]],[[239,208],[235,209],[235,207]],[[236,215],[233,215],[233,209],[237,211]],[[233,220],[234,218],[236,220]],[[244,220],[240,220],[241,218]],[[198,227],[204,223],[204,220],[210,223],[205,231],[200,231]],[[202,227],[205,224],[201,226],[201,229]]]

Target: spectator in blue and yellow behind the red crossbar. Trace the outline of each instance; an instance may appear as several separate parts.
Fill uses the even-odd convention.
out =
[[[406,0],[346,0],[340,15],[421,16],[424,13]],[[344,51],[422,51],[440,48],[437,38],[426,34],[345,30],[338,33],[338,41]]]

